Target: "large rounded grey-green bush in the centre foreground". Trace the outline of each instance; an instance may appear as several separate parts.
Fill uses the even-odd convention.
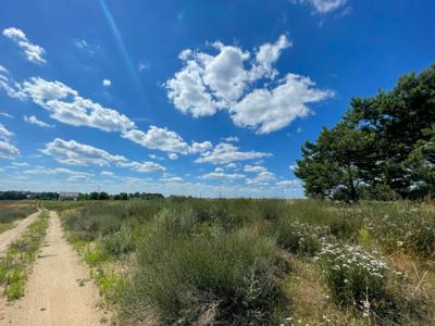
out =
[[[137,259],[124,306],[139,318],[153,311],[162,324],[264,324],[285,301],[275,244],[248,230],[209,238],[157,228]]]

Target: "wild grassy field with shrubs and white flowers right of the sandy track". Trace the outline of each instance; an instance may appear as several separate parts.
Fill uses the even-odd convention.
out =
[[[435,209],[45,202],[122,325],[434,325]]]

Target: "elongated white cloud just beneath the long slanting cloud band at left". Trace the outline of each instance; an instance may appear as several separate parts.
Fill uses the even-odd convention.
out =
[[[63,140],[60,138],[46,143],[41,150],[46,155],[52,156],[55,161],[70,165],[98,165],[110,166],[112,164],[127,167],[137,172],[163,172],[165,167],[154,162],[129,161],[122,155],[112,155],[109,152],[89,145],[79,143],[75,140]]]

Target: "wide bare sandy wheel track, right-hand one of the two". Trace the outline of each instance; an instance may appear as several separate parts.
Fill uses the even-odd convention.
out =
[[[98,291],[86,267],[66,242],[60,221],[51,212],[46,244],[35,262],[25,296],[12,305],[0,302],[0,325],[90,326],[101,325]]]

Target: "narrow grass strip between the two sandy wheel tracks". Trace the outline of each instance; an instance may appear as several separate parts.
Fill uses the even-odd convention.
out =
[[[24,296],[24,286],[48,227],[49,213],[42,212],[0,256],[0,287],[9,301]]]

